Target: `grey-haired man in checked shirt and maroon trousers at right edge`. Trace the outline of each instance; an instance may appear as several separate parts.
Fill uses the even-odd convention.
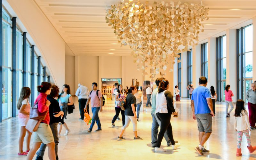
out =
[[[249,121],[251,129],[256,129],[256,83],[252,83],[251,89],[246,93],[249,109]]]

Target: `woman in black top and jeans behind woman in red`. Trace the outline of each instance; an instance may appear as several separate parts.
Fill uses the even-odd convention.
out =
[[[52,134],[55,142],[55,155],[56,160],[58,160],[58,123],[61,120],[61,116],[63,116],[63,111],[60,110],[59,102],[56,100],[59,95],[59,87],[56,85],[52,85],[51,94],[47,96],[47,100],[51,102],[49,106],[49,114],[50,114],[50,127],[52,129]],[[56,99],[55,99],[56,98]],[[36,160],[42,160],[44,156],[46,145],[44,143],[41,144],[40,149],[36,153]]]

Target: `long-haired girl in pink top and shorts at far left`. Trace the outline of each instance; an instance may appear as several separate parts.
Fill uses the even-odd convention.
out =
[[[20,98],[17,103],[17,109],[19,109],[18,120],[20,124],[20,137],[19,137],[19,152],[18,156],[27,156],[29,149],[29,143],[31,138],[31,132],[27,131],[26,124],[29,119],[30,113],[30,104],[29,104],[29,96],[30,96],[30,88],[23,87],[20,91]],[[23,141],[27,132],[27,150],[23,152]]]

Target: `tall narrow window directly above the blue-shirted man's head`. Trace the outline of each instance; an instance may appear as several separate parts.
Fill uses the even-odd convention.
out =
[[[201,44],[201,75],[208,79],[208,43]]]

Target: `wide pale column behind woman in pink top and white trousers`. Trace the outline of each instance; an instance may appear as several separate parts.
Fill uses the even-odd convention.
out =
[[[227,81],[234,93],[233,102],[236,102],[236,29],[228,29],[227,36]]]

